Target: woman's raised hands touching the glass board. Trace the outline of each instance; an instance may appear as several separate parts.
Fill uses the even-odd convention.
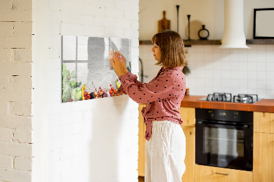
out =
[[[123,61],[121,58],[123,59]],[[127,68],[126,60],[124,59],[125,59],[124,56],[121,55],[120,53],[114,53],[113,58],[110,59],[110,62],[112,63],[112,67],[118,77],[120,77],[121,75],[127,74],[127,71],[125,70],[125,68]]]

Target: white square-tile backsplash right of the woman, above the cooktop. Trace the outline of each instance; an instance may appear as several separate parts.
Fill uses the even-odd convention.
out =
[[[186,76],[190,94],[232,92],[273,99],[274,46],[248,46],[251,49],[219,49],[217,45],[186,48],[190,54],[187,58],[191,73]]]

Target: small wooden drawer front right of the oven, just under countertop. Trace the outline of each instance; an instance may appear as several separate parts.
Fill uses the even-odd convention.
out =
[[[254,132],[274,133],[274,113],[254,112]]]

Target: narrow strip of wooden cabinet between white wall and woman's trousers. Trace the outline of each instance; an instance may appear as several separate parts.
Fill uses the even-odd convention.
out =
[[[140,177],[145,177],[145,125],[144,118],[142,117],[142,107],[145,104],[139,105],[139,134],[138,134],[138,175]]]

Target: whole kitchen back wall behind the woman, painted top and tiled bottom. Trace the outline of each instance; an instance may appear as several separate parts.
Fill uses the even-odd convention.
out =
[[[245,0],[245,35],[253,38],[253,8],[273,8],[274,1]],[[140,40],[151,40],[157,33],[157,21],[166,10],[166,18],[171,20],[171,29],[177,30],[177,4],[184,19],[191,14],[192,20],[203,22],[210,31],[209,39],[221,39],[223,35],[224,1],[140,1]],[[172,7],[171,7],[172,6]],[[152,11],[153,9],[153,11]],[[173,13],[173,15],[171,15]],[[169,15],[170,14],[170,15]],[[150,18],[147,18],[150,17]],[[214,21],[212,21],[214,20]],[[149,22],[148,22],[149,21]],[[185,25],[184,25],[185,23]],[[152,25],[152,26],[147,26]],[[183,31],[187,18],[179,23],[179,34],[186,38]],[[150,81],[158,73],[151,53],[151,45],[140,45],[140,58],[144,64],[144,75]],[[274,98],[274,45],[249,45],[251,49],[219,49],[218,45],[192,45],[187,47],[187,61],[190,75],[186,76],[186,85],[192,95],[207,95],[213,92],[231,92],[232,94],[258,94],[262,99]]]

